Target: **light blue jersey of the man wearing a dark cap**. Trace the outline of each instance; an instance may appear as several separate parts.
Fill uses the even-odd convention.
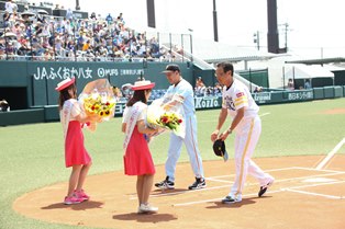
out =
[[[170,85],[167,90],[167,93],[165,94],[166,99],[174,100],[174,96],[179,95],[182,99],[182,105],[185,115],[192,115],[196,112],[194,108],[194,94],[193,94],[193,88],[189,82],[187,82],[185,79],[181,79],[181,81],[177,85]]]

